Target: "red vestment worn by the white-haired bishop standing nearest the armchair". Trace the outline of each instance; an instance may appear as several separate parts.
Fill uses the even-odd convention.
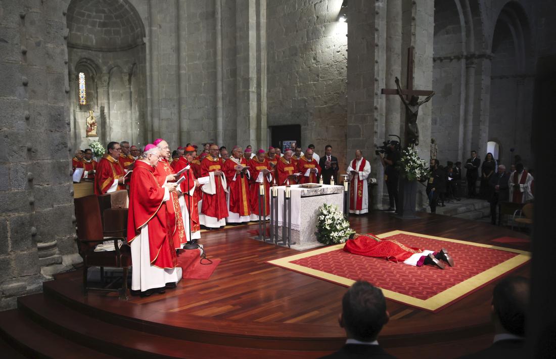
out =
[[[130,206],[127,214],[127,242],[131,243],[148,224],[148,244],[151,264],[158,268],[176,267],[176,250],[172,235],[174,224],[168,219],[163,201],[164,189],[154,175],[155,169],[148,163],[137,161],[130,184]]]

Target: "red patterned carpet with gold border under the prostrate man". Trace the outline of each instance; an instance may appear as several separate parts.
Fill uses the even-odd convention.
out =
[[[394,230],[377,235],[422,249],[448,249],[454,267],[414,267],[344,252],[344,244],[311,250],[268,263],[349,287],[363,279],[384,296],[409,306],[438,312],[530,260],[523,250]]]

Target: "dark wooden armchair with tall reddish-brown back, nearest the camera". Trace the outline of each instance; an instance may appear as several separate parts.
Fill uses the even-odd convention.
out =
[[[77,220],[77,245],[79,254],[83,258],[83,292],[87,295],[88,289],[116,291],[120,293],[120,299],[127,299],[127,275],[128,269],[131,267],[131,251],[127,245],[123,245],[122,248],[118,245],[119,241],[126,242],[126,239],[124,237],[104,237],[96,195],[76,198],[74,203]],[[114,250],[95,252],[97,244],[110,240],[114,243]],[[103,288],[88,287],[87,272],[89,267],[101,268],[101,282],[104,282],[104,267],[122,268],[122,287],[111,289],[110,287],[116,281]]]

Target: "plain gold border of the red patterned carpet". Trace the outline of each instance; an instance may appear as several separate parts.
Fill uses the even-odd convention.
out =
[[[498,265],[495,265],[494,267],[492,267],[490,269],[487,269],[486,271],[481,272],[474,277],[465,279],[465,281],[463,281],[461,283],[458,283],[455,286],[453,286],[451,288],[448,288],[445,291],[440,292],[440,293],[436,294],[435,296],[430,297],[430,298],[425,299],[425,300],[414,298],[414,297],[411,297],[411,296],[407,296],[406,294],[401,294],[401,293],[389,291],[388,289],[381,288],[383,293],[384,293],[384,296],[386,298],[392,299],[394,301],[406,303],[406,304],[409,304],[409,305],[414,306],[414,307],[423,308],[423,309],[426,309],[426,310],[429,310],[429,311],[435,311],[436,309],[445,306],[446,304],[454,301],[455,299],[458,299],[459,297],[464,296],[466,293],[469,293],[470,291],[473,291],[473,289],[478,288],[480,286],[483,286],[483,284],[488,283],[488,282],[492,281],[493,279],[497,278],[498,276],[500,276],[500,275],[502,275],[502,274],[504,274],[508,271],[511,271],[515,267],[518,267],[519,265],[527,262],[531,257],[531,253],[530,252],[525,252],[524,250],[513,249],[513,248],[504,248],[504,247],[498,247],[498,246],[495,246],[495,245],[482,244],[482,243],[467,242],[465,240],[434,237],[433,235],[426,235],[426,234],[413,233],[413,232],[405,232],[403,230],[393,230],[391,232],[386,232],[386,233],[376,235],[376,237],[386,238],[386,237],[391,237],[392,235],[396,235],[396,234],[415,235],[415,236],[423,237],[423,238],[431,238],[431,239],[442,240],[444,242],[453,242],[453,243],[474,245],[475,247],[492,248],[492,249],[504,250],[505,252],[513,252],[513,253],[518,254],[517,256],[515,256],[513,258],[505,260],[504,262],[502,262]],[[353,279],[336,276],[335,274],[330,274],[330,273],[326,273],[326,272],[322,272],[322,271],[317,271],[316,269],[307,268],[307,267],[303,267],[302,265],[291,263],[294,260],[312,257],[313,255],[317,255],[317,254],[331,252],[332,250],[341,249],[343,247],[344,247],[344,243],[331,245],[330,247],[320,248],[320,249],[316,249],[316,250],[310,250],[309,252],[304,252],[304,253],[300,253],[300,254],[290,255],[289,257],[270,260],[269,263],[277,265],[279,267],[291,269],[292,271],[305,273],[305,274],[308,274],[310,276],[314,276],[314,277],[317,277],[317,278],[322,278],[322,279],[325,279],[326,281],[335,282],[335,283],[342,284],[344,286],[349,287],[349,286],[351,286],[351,284],[355,283],[355,281]],[[440,248],[437,248],[437,249],[440,249]]]

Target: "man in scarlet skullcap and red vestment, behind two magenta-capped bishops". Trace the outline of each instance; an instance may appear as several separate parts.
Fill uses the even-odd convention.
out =
[[[176,172],[184,168],[186,169],[180,176],[180,178],[185,177],[185,180],[180,183],[180,208],[187,242],[194,242],[196,239],[201,238],[201,226],[197,209],[199,197],[196,195],[196,193],[201,192],[201,189],[199,188],[199,183],[195,174],[193,174],[193,168],[191,166],[194,154],[195,148],[187,146],[184,156],[180,157],[174,166]]]

